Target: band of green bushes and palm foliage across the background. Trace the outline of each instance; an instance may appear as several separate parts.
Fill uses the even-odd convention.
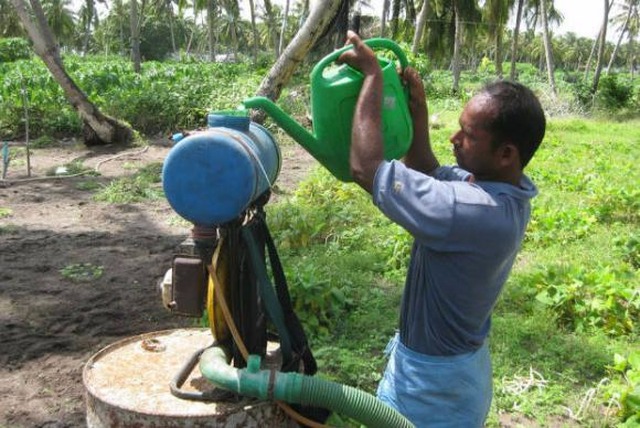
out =
[[[461,81],[465,73],[475,75],[483,71],[487,78],[511,75],[527,83],[532,74],[547,72],[548,78],[541,83],[549,97],[562,94],[561,86],[569,85],[585,110],[593,108],[596,102],[599,103],[596,108],[605,109],[638,105],[640,95],[633,84],[638,62],[634,46],[640,31],[637,0],[624,0],[611,10],[607,27],[609,34],[619,35],[618,41],[602,44],[597,49],[597,58],[592,55],[596,41],[572,33],[551,37],[543,43],[546,36],[553,36],[547,34],[548,27],[552,29],[562,21],[551,0],[393,0],[385,2],[391,7],[385,9],[382,20],[360,17],[355,7],[360,2],[344,2],[341,9],[344,13],[335,18],[334,27],[308,55],[311,62],[341,44],[349,19],[352,27],[366,37],[386,35],[408,42],[418,30],[417,11],[424,10],[427,19],[421,23],[425,27],[420,28],[423,38],[414,40],[411,49],[406,47],[407,51],[421,55],[424,71],[429,75],[449,68],[453,57],[453,76],[437,82],[435,89],[439,94],[458,93],[465,88]],[[39,4],[35,0],[31,3]],[[104,126],[105,120],[108,122],[109,118],[97,115],[93,121],[87,120],[91,104],[147,135],[197,126],[208,109],[220,105],[235,107],[239,99],[255,92],[259,81],[229,86],[226,84],[229,80],[219,73],[250,74],[258,79],[265,76],[266,67],[282,50],[283,43],[293,38],[300,22],[309,14],[308,2],[292,3],[291,8],[282,8],[270,0],[258,0],[250,2],[247,10],[247,5],[238,0],[140,5],[137,0],[117,0],[96,8],[93,0],[86,0],[78,10],[72,10],[67,1],[45,0],[42,9],[55,40],[40,43],[34,39],[33,47],[43,56],[40,46],[48,46],[44,49],[46,53],[57,42],[64,62],[64,69],[60,69],[60,61],[46,55],[43,56],[46,68],[41,60],[29,59],[25,28],[16,11],[20,5],[27,11],[31,6],[23,0],[0,0],[0,75],[4,77],[0,137],[17,139],[23,135],[25,111],[29,112],[36,137],[79,136],[87,123],[100,128],[100,123]],[[507,28],[507,18],[515,15],[519,5],[522,24]],[[136,13],[140,16],[135,28],[130,19],[133,6],[137,6]],[[243,8],[245,13],[240,13]],[[29,35],[35,37],[32,32]],[[512,46],[513,54],[505,52],[508,46]],[[130,48],[136,48],[140,58],[130,61]],[[95,56],[87,60],[87,55]],[[158,62],[164,60],[180,62]],[[237,68],[222,67],[215,61],[233,61]],[[600,78],[604,63],[606,72]],[[58,85],[60,77],[52,79],[49,74],[52,66],[59,69],[59,74],[68,73],[88,99],[82,93],[70,93],[68,85],[64,85],[63,91]],[[247,73],[249,68],[257,74]],[[82,115],[71,105],[83,110]]]

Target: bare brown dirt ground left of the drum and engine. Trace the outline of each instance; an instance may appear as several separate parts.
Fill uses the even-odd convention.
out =
[[[82,369],[93,354],[125,337],[193,326],[167,312],[157,291],[189,234],[168,203],[95,202],[79,188],[86,176],[46,177],[82,160],[107,183],[168,151],[167,144],[88,150],[66,142],[32,151],[32,179],[24,159],[9,165],[0,181],[0,427],[85,426]],[[295,189],[314,163],[285,147],[279,190]],[[62,275],[78,264],[101,266],[102,275],[85,282]]]

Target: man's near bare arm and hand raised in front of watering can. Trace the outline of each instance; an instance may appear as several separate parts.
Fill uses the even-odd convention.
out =
[[[378,60],[358,35],[347,33],[347,41],[353,49],[340,55],[343,62],[364,74],[364,82],[351,128],[349,164],[353,180],[363,189],[373,191],[373,179],[384,160],[382,147],[382,70]]]

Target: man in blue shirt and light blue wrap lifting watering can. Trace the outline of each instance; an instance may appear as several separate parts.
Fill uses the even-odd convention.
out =
[[[407,68],[414,138],[404,163],[384,161],[380,67],[355,33],[348,42],[354,48],[339,61],[364,75],[353,178],[415,238],[378,397],[417,426],[480,427],[492,398],[485,339],[537,194],[523,169],[544,137],[544,112],[523,85],[488,85],[464,107],[451,136],[458,165],[441,167],[429,143],[422,81]]]

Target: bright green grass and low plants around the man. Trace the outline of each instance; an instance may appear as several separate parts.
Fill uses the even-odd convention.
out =
[[[443,110],[438,121],[434,150],[450,163],[457,114]],[[637,119],[549,121],[527,171],[540,195],[493,317],[489,426],[502,413],[596,427],[636,414],[640,379],[614,361],[640,355],[638,129]],[[411,239],[324,171],[268,214],[320,375],[374,393]]]

